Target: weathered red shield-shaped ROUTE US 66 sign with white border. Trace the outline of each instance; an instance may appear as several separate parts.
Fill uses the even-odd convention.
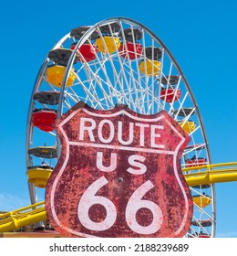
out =
[[[189,136],[170,115],[79,102],[57,120],[62,152],[46,213],[66,237],[182,237],[192,199],[180,169]]]

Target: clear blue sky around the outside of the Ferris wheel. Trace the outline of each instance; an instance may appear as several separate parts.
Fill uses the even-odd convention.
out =
[[[234,0],[5,1],[0,9],[0,210],[29,204],[26,117],[37,71],[74,27],[124,16],[170,49],[201,110],[213,163],[237,161],[237,2]],[[237,182],[218,184],[217,236],[237,237]]]

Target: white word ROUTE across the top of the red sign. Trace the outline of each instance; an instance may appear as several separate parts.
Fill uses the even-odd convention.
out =
[[[92,118],[81,117],[79,126],[79,141],[114,144],[118,147],[127,145],[136,148],[165,148],[161,138],[163,125],[132,122],[126,124],[121,121],[113,123],[108,119],[95,121]]]

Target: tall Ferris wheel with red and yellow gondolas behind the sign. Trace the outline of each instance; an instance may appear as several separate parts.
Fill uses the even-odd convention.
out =
[[[36,77],[26,127],[26,166],[31,203],[43,197],[60,155],[58,116],[78,101],[98,110],[124,104],[134,112],[165,110],[191,137],[181,157],[185,174],[210,165],[208,140],[191,87],[170,50],[149,28],[124,17],[74,28],[46,55]],[[213,184],[190,186],[187,237],[215,235]]]

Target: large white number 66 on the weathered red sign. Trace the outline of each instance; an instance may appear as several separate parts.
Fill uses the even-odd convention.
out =
[[[96,196],[98,190],[106,184],[108,184],[108,180],[105,176],[101,176],[87,188],[80,198],[77,216],[81,224],[87,229],[97,231],[106,230],[111,228],[116,221],[117,210],[114,204],[107,197]],[[163,215],[159,206],[149,200],[141,199],[152,187],[154,186],[149,180],[142,184],[129,198],[125,210],[125,219],[129,228],[139,234],[149,235],[157,232],[163,221]],[[96,204],[102,205],[107,211],[106,218],[101,222],[95,222],[88,216],[89,208]],[[139,225],[136,219],[136,213],[140,208],[149,208],[152,212],[153,220],[149,226],[144,227]]]

